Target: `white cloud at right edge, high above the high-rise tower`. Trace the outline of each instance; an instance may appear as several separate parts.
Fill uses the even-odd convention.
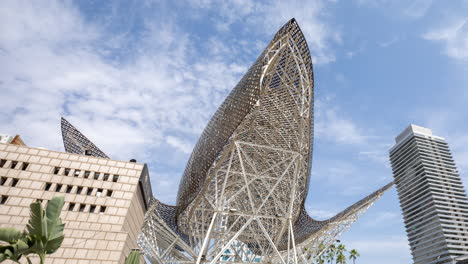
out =
[[[444,53],[457,60],[468,60],[468,17],[454,19],[423,35],[424,39],[443,44]]]

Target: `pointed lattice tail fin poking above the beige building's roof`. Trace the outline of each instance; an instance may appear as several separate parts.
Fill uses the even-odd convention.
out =
[[[109,157],[102,152],[96,145],[85,137],[65,118],[61,119],[62,139],[65,151],[74,154],[87,154],[89,156],[106,158]]]

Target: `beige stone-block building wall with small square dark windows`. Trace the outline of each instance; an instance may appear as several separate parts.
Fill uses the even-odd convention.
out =
[[[65,240],[46,263],[123,263],[137,247],[143,164],[0,144],[0,165],[2,227],[24,229],[31,202],[65,197]]]

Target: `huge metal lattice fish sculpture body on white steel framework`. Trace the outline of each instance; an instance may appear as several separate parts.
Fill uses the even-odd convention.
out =
[[[297,22],[284,25],[203,131],[177,205],[154,199],[139,245],[152,263],[307,263],[392,183],[337,216],[304,209],[313,74]]]

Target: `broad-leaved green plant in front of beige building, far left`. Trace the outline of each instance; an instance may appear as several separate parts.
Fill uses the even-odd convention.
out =
[[[40,263],[45,262],[46,255],[57,251],[62,245],[64,236],[60,212],[64,204],[63,197],[54,197],[46,208],[39,202],[30,205],[30,218],[26,229],[21,232],[14,228],[0,228],[0,262],[12,260],[18,262],[24,257],[32,263],[30,255],[38,255]]]

